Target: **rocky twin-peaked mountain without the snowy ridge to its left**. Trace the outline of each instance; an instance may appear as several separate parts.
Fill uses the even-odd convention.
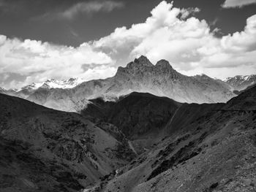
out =
[[[211,82],[214,82],[212,79]],[[107,80],[83,82],[74,88],[93,99],[102,95],[126,95],[132,91],[167,96],[180,102],[212,103],[227,101],[234,94],[221,83],[205,84],[195,77],[176,72],[170,64],[161,60],[154,66],[141,56],[126,67],[118,67],[116,75]]]

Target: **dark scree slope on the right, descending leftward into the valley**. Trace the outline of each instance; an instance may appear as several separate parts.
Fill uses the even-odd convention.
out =
[[[256,191],[256,87],[227,104],[182,104],[167,137],[91,191]]]

